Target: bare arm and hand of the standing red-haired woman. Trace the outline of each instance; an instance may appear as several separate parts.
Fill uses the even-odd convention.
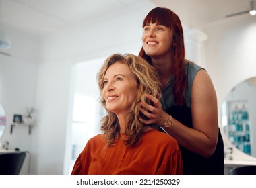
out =
[[[149,96],[154,107],[141,104],[152,113],[141,111],[150,120],[141,120],[145,124],[156,123],[162,125],[168,114],[162,110],[160,101]],[[165,128],[171,136],[177,139],[181,146],[204,157],[214,153],[218,140],[218,107],[214,85],[206,71],[201,70],[195,76],[191,93],[191,113],[193,128],[188,128],[172,118],[172,126]]]

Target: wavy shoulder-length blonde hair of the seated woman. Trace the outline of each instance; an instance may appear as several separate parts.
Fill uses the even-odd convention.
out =
[[[102,95],[102,89],[104,88],[104,76],[106,75],[108,68],[115,64],[115,62],[127,64],[137,81],[137,85],[139,86],[139,93],[127,113],[125,136],[122,137],[123,142],[127,146],[135,146],[139,142],[143,132],[143,123],[139,120],[139,116],[141,116],[139,111],[141,107],[140,103],[141,101],[150,103],[150,101],[145,97],[146,94],[153,95],[160,99],[161,83],[156,69],[139,56],[135,56],[133,54],[113,54],[105,60],[102,68],[98,72],[97,80],[98,87],[100,89],[100,103],[107,113],[100,122],[101,130],[103,131],[103,136],[106,140],[106,146],[115,144],[120,136],[119,120],[117,115],[106,109],[106,101]],[[153,125],[151,126],[154,127]]]

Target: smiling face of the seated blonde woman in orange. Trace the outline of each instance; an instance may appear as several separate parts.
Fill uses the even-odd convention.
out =
[[[106,71],[103,83],[102,95],[106,100],[106,109],[117,115],[127,115],[139,91],[137,81],[128,65],[115,62]]]

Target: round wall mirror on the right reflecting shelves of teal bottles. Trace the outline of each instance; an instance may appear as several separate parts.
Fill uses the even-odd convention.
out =
[[[239,150],[256,156],[256,77],[236,85],[222,103],[222,128]]]

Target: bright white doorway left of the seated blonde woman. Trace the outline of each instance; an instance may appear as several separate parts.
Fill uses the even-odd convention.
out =
[[[100,119],[104,112],[100,106],[96,75],[104,60],[98,58],[75,65],[69,174],[88,140],[100,134]]]

